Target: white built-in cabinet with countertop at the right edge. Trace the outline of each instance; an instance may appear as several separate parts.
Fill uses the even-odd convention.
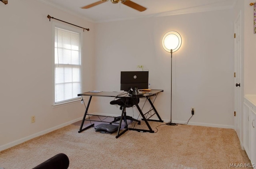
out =
[[[252,167],[256,169],[256,95],[244,97],[243,146]]]

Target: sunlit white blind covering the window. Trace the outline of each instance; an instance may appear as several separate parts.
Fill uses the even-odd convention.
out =
[[[81,93],[80,33],[55,27],[55,104],[75,100]]]

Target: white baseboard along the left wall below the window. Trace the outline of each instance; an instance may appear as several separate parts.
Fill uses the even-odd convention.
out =
[[[36,137],[38,137],[38,136],[42,136],[42,135],[44,135],[44,134],[50,133],[50,132],[52,132],[52,131],[54,131],[54,130],[58,130],[58,129],[63,128],[63,127],[65,127],[65,126],[68,126],[68,125],[70,125],[70,124],[72,124],[72,123],[74,123],[74,122],[78,122],[79,120],[82,120],[82,119],[83,119],[82,117],[81,117],[81,118],[77,118],[77,119],[75,119],[75,120],[71,120],[70,122],[66,122],[66,123],[60,124],[60,125],[58,125],[58,126],[54,126],[54,127],[52,127],[52,128],[46,129],[46,130],[44,130],[44,131],[41,131],[41,132],[32,134],[32,135],[30,135],[30,136],[21,138],[21,139],[19,139],[19,140],[15,140],[15,141],[12,141],[12,142],[10,142],[10,143],[1,145],[1,146],[0,146],[0,151],[5,150],[5,149],[8,149],[8,148],[10,148],[10,147],[13,147],[13,146],[15,146],[15,145],[18,145],[18,144],[23,143],[23,142],[25,142],[25,141],[28,141],[28,140],[30,140],[30,139],[32,139],[32,138],[36,138]]]

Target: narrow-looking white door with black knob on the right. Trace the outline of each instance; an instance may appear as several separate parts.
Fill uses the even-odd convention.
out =
[[[234,90],[235,90],[235,124],[234,129],[238,138],[241,140],[241,120],[242,120],[242,111],[241,111],[241,12],[238,14],[238,17],[235,20],[235,51],[234,51]]]

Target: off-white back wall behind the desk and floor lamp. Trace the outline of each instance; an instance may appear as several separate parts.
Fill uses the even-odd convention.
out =
[[[167,31],[182,36],[173,53],[172,120],[190,124],[234,126],[234,20],[233,10],[219,10],[96,25],[96,89],[120,90],[120,71],[149,69],[161,118],[170,120],[170,53],[162,48]],[[118,114],[108,98],[98,98],[97,112]],[[132,115],[132,109],[127,109]],[[134,112],[136,110],[134,109]],[[137,114],[135,114],[136,116]]]

